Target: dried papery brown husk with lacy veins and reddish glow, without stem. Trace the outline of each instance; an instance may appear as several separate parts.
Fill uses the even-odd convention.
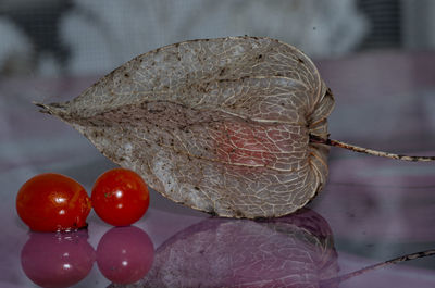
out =
[[[306,205],[327,176],[334,105],[314,64],[269,38],[191,40],[139,55],[45,105],[165,197],[229,217]]]

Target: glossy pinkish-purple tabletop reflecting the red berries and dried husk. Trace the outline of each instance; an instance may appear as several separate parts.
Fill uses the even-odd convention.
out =
[[[435,155],[434,53],[371,53],[316,64],[336,98],[332,138]],[[51,287],[77,280],[73,287],[108,287],[112,283],[100,270],[114,272],[114,260],[137,268],[141,279],[135,287],[324,287],[325,278],[435,249],[435,164],[336,148],[324,190],[309,209],[287,217],[211,218],[151,190],[150,209],[134,227],[113,229],[91,212],[87,230],[66,239],[30,233],[15,211],[25,180],[62,173],[89,191],[98,175],[114,167],[77,132],[32,104],[70,99],[96,79],[0,82],[0,287],[38,287],[34,281],[40,279],[46,286],[52,280]],[[435,256],[369,272],[338,287],[435,287]]]

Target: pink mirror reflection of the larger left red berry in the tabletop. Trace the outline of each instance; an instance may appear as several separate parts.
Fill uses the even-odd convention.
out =
[[[30,233],[21,251],[24,273],[35,284],[70,287],[90,272],[96,254],[87,241],[87,230],[71,233]]]

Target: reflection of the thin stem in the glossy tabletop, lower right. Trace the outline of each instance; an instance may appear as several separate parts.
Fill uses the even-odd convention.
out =
[[[334,287],[334,285],[340,284],[344,280],[350,279],[350,278],[352,278],[355,276],[359,276],[361,274],[364,274],[366,272],[370,272],[370,271],[373,271],[373,270],[376,270],[376,268],[382,268],[382,267],[385,267],[385,266],[388,266],[388,265],[391,265],[391,264],[398,264],[398,263],[401,263],[401,262],[415,260],[415,259],[419,259],[419,258],[431,256],[431,255],[435,255],[435,249],[426,250],[426,251],[422,251],[422,252],[417,252],[417,253],[412,253],[412,254],[407,254],[407,255],[403,255],[403,256],[398,256],[398,258],[395,258],[395,259],[391,259],[391,260],[388,260],[388,261],[385,261],[385,262],[382,262],[382,263],[377,263],[377,264],[374,264],[374,265],[366,266],[366,267],[364,267],[362,270],[358,270],[358,271],[355,271],[355,272],[350,272],[348,274],[344,274],[341,276],[337,276],[337,277],[334,277],[334,278],[330,278],[330,279],[323,279],[323,280],[321,280],[321,287]]]

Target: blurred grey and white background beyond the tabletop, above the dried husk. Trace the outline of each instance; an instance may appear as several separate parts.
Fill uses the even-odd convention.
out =
[[[2,0],[0,76],[108,73],[195,38],[268,36],[314,59],[435,48],[432,0]]]

